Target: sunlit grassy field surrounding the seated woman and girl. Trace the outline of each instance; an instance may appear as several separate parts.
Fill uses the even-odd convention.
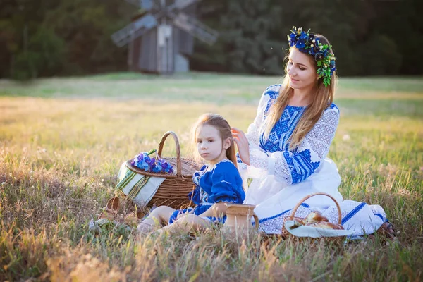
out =
[[[341,122],[329,157],[340,191],[384,207],[399,243],[89,232],[118,195],[123,161],[156,148],[167,130],[188,154],[190,125],[204,112],[246,130],[262,91],[278,82],[209,73],[0,80],[0,281],[421,280],[423,78],[342,78],[335,100]]]

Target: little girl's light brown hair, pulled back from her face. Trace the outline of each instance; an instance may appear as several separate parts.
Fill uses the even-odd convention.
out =
[[[231,139],[231,146],[226,149],[226,157],[235,164],[236,164],[236,154],[235,154],[235,145],[233,142],[231,126],[229,125],[228,121],[226,121],[223,116],[219,114],[203,114],[198,118],[198,121],[192,126],[191,134],[192,134],[192,145],[195,147],[197,144],[197,129],[202,125],[212,125],[214,128],[219,130],[220,136],[222,140],[226,140],[227,138]],[[223,147],[222,147],[223,149]],[[196,150],[194,150],[196,152]],[[200,156],[195,154],[197,161],[200,160]]]

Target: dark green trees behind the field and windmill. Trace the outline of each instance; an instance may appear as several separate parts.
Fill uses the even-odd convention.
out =
[[[197,18],[219,31],[195,40],[194,70],[281,74],[293,25],[325,35],[340,75],[423,73],[421,0],[202,0]],[[140,10],[124,0],[0,1],[0,77],[127,70],[111,34]]]

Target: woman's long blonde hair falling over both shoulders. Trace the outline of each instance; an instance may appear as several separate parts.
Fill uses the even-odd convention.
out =
[[[321,44],[329,44],[328,39],[323,35],[315,34],[314,37],[320,39]],[[291,47],[290,51],[295,48]],[[330,49],[331,53],[333,54],[332,49]],[[287,54],[286,59],[288,59],[289,54]],[[309,59],[312,61],[312,66],[316,69],[316,61],[311,55],[308,55]],[[286,73],[288,73],[288,63],[286,64]],[[333,102],[333,94],[335,93],[336,82],[338,81],[338,76],[336,75],[336,71],[333,72],[331,77],[331,84],[327,87],[323,84],[323,78],[319,78],[316,84],[316,91],[314,92],[314,97],[312,99],[312,103],[307,106],[298,121],[293,134],[290,136],[289,139],[289,149],[293,150],[297,148],[302,140],[304,139],[305,135],[309,133],[310,130],[314,127],[314,125],[319,121],[319,118],[323,114],[324,110],[330,106]],[[283,110],[288,105],[288,101],[290,97],[292,97],[294,90],[289,86],[289,75],[285,75],[283,79],[283,84],[281,89],[279,90],[279,95],[276,98],[274,104],[271,105],[269,109],[269,116],[266,118],[266,128],[264,130],[264,137],[267,139],[269,138],[270,132],[274,125],[279,121]]]

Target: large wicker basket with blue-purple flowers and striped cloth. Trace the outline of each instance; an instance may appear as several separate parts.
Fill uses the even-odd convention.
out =
[[[176,157],[161,157],[168,135],[175,141]],[[149,157],[153,152],[157,152],[156,157]],[[166,205],[180,209],[192,205],[188,194],[194,188],[192,174],[198,170],[200,164],[193,159],[180,157],[178,136],[168,131],[161,137],[157,151],[142,152],[125,161],[119,172],[117,188],[138,207]]]

